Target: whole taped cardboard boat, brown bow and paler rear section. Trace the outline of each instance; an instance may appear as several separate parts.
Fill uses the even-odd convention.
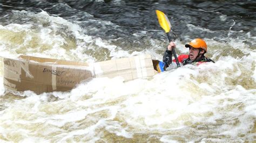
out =
[[[124,81],[148,78],[159,71],[159,61],[150,55],[132,56],[96,62],[66,61],[21,55],[4,58],[4,87],[7,90],[31,90],[36,94],[69,91],[89,78],[122,76]],[[157,71],[158,70],[158,71]]]

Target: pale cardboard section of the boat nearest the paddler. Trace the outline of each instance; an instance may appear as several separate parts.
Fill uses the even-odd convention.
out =
[[[155,74],[150,55],[97,62],[94,67],[96,77],[122,76],[125,81]]]

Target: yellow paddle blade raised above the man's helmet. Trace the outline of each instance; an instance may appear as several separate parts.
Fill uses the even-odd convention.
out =
[[[156,13],[157,13],[158,22],[160,26],[164,29],[165,33],[170,32],[171,24],[167,16],[164,14],[164,12],[161,12],[159,10],[156,10]]]

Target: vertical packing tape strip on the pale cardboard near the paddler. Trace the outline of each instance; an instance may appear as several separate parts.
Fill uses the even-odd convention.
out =
[[[146,77],[147,76],[147,70],[146,70],[146,67],[145,67],[146,64],[145,64],[144,55],[136,56],[135,64],[136,64],[137,76],[138,77]]]

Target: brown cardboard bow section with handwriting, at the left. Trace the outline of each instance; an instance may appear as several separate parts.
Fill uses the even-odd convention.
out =
[[[24,59],[23,59],[24,58]],[[4,58],[4,87],[36,94],[68,91],[87,78],[94,77],[85,62],[64,61],[33,56]]]

